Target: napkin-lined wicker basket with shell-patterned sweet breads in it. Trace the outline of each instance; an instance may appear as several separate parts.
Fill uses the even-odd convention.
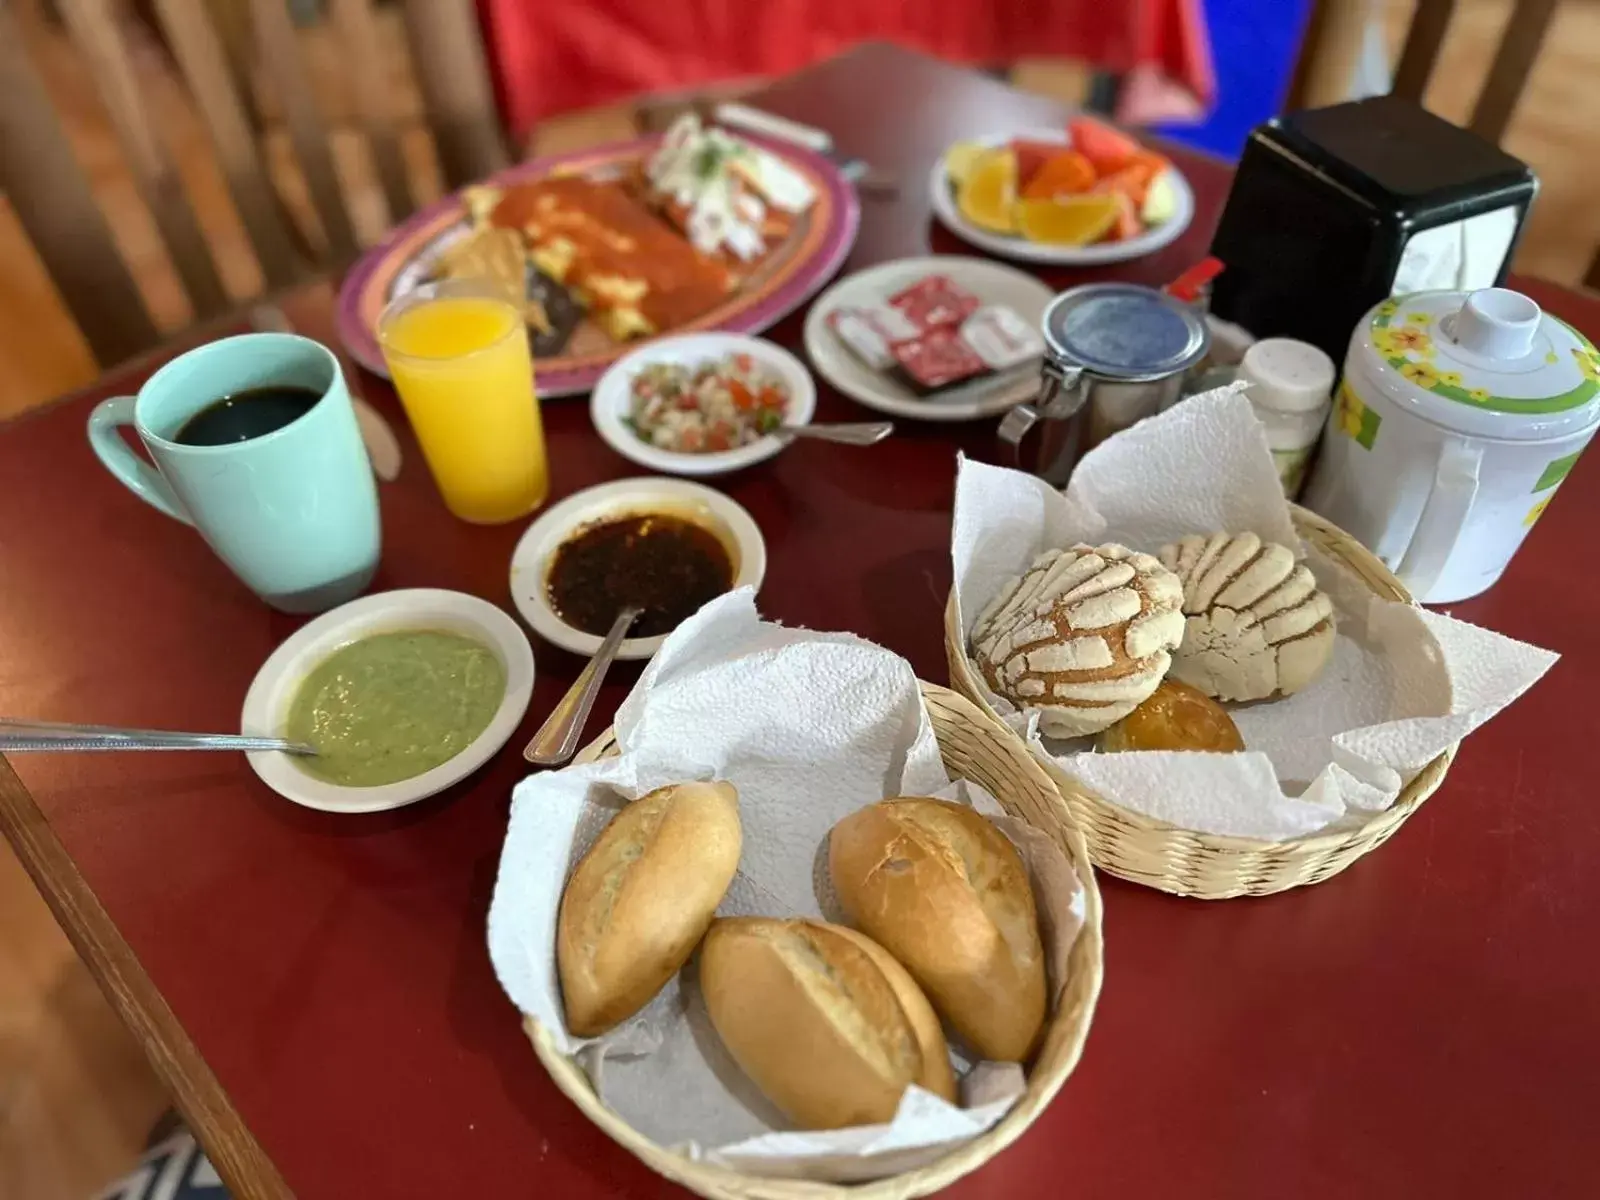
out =
[[[952,560],[952,686],[1029,747],[1098,867],[1184,896],[1344,870],[1554,661],[1419,608],[1285,501],[1234,394],[1114,435],[1066,493],[963,462]]]

